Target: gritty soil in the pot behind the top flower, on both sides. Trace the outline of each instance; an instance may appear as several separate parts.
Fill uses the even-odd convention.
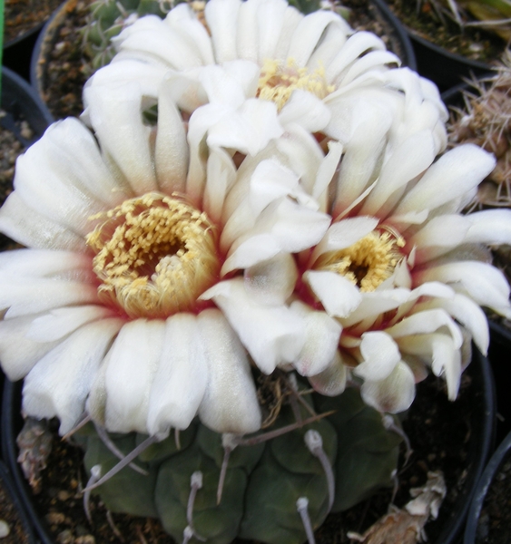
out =
[[[91,2],[68,2],[64,23],[57,28],[57,34],[48,48],[48,60],[39,61],[43,99],[55,119],[78,116],[84,109],[82,89],[92,70],[83,52],[80,28],[86,24]],[[343,2],[351,10],[349,24],[357,30],[378,34],[390,51],[404,58],[404,51],[392,26],[378,14],[374,5],[368,4],[368,0]]]

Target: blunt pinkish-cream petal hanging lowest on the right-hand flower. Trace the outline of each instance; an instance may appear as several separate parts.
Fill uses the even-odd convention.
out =
[[[379,412],[404,412],[415,398],[414,374],[408,364],[398,363],[385,380],[364,382],[360,394],[366,404]]]

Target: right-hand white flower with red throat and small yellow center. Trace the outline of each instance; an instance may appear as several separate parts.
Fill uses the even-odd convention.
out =
[[[294,368],[319,393],[341,393],[351,375],[361,382],[367,403],[397,413],[408,408],[415,384],[430,369],[445,377],[448,396],[455,399],[470,361],[470,341],[487,350],[480,306],[511,316],[509,287],[491,266],[487,249],[511,240],[511,211],[460,214],[495,159],[467,144],[434,161],[433,141],[432,131],[382,139],[377,147],[383,151],[366,164],[363,177],[347,155],[329,163],[338,145],[333,141],[316,177],[301,177],[301,188],[332,219],[319,244],[295,256],[298,277],[287,299],[291,311],[307,319],[305,345]],[[353,155],[362,154],[365,145],[352,141]],[[280,160],[287,160],[289,168],[320,154],[313,137],[298,141],[289,133],[276,147],[285,150]],[[336,173],[325,184],[321,170],[327,165],[330,174]],[[275,300],[252,294],[273,277],[285,276],[290,265],[273,257],[252,267],[249,253],[247,260],[241,252],[236,257],[224,267],[244,268],[244,279],[221,282],[202,298],[220,306],[242,338],[241,308],[251,300],[261,319],[270,314]],[[342,327],[339,342],[336,324]],[[249,345],[249,339],[242,340]],[[251,354],[260,364],[259,354]],[[259,356],[267,360],[263,352]]]

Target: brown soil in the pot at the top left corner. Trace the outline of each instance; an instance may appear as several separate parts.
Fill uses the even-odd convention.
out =
[[[60,5],[61,0],[5,0],[4,43],[30,33]]]

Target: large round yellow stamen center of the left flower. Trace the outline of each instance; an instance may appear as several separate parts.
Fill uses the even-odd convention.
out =
[[[218,279],[216,230],[176,195],[148,193],[92,219],[105,219],[86,238],[98,295],[130,317],[192,310]]]

